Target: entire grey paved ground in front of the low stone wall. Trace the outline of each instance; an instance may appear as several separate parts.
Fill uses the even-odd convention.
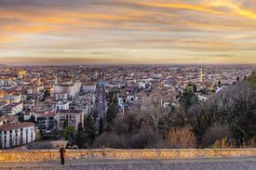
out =
[[[220,165],[218,165],[218,163]],[[116,165],[116,167],[118,167],[120,165],[126,165],[127,167],[129,167],[129,165],[132,165],[132,166],[134,166],[134,168],[138,167],[138,169],[144,169],[144,168],[141,168],[144,165],[151,167],[151,166],[155,166],[155,164],[160,165],[159,167],[161,167],[161,165],[165,165],[165,167],[166,167],[166,165],[168,165],[168,167],[173,167],[173,168],[176,167],[177,165],[178,165],[177,167],[180,167],[182,165],[181,169],[191,169],[191,168],[187,168],[187,167],[190,167],[190,165],[197,167],[196,169],[201,169],[201,168],[199,168],[198,164],[207,165],[207,167],[209,167],[208,169],[211,169],[210,168],[211,166],[216,166],[216,165],[218,165],[218,167],[220,167],[220,168],[222,167],[222,165],[228,166],[227,167],[228,169],[237,169],[240,166],[241,166],[241,168],[238,168],[238,169],[244,169],[244,168],[256,169],[256,157],[236,157],[236,158],[235,157],[232,157],[232,158],[224,157],[224,158],[161,159],[161,160],[147,160],[147,159],[144,159],[144,160],[66,160],[64,165],[61,164],[61,161],[0,162],[0,169],[2,169],[2,168],[5,168],[5,169],[6,168],[7,169],[8,168],[9,169],[12,169],[12,168],[17,168],[17,169],[24,169],[24,168],[77,169],[77,167],[79,167],[79,166],[80,166],[80,168],[82,167],[81,169],[90,169],[91,167],[100,167],[97,169],[109,169],[106,167],[115,167],[115,165]],[[179,166],[179,164],[180,164],[180,166]],[[171,166],[169,166],[169,165],[171,165]],[[234,166],[234,168],[233,168],[233,166]],[[218,167],[217,167],[217,169],[219,169]],[[80,168],[78,168],[78,169],[80,169]],[[126,169],[126,168],[124,168],[124,169]],[[174,169],[176,169],[176,168],[174,168]],[[178,169],[180,169],[180,168],[178,168]],[[216,167],[214,167],[213,169],[216,169]]]

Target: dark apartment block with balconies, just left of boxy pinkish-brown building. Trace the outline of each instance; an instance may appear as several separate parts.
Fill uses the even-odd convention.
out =
[[[47,112],[46,114],[39,115],[37,117],[37,127],[40,129],[53,129],[55,113],[54,112]]]

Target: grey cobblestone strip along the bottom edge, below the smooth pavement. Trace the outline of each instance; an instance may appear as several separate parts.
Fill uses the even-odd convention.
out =
[[[219,163],[152,163],[152,164],[107,164],[107,165],[87,165],[87,166],[58,166],[58,167],[31,167],[31,168],[1,168],[4,170],[219,170],[236,169],[247,170],[256,169],[256,162],[219,162]]]

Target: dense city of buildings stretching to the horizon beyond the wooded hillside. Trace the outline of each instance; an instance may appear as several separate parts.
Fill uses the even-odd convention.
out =
[[[86,127],[88,117],[93,119],[96,136],[104,131],[102,124],[110,119],[113,103],[111,122],[121,121],[134,106],[145,111],[155,86],[160,89],[164,108],[180,107],[179,95],[185,89],[193,89],[206,101],[223,88],[236,85],[237,80],[245,80],[254,68],[253,64],[2,66],[0,146],[24,145],[29,149],[44,138],[67,139],[61,137],[61,131],[68,125],[75,131],[79,124]],[[60,136],[55,134],[58,132]],[[69,139],[68,147],[78,148],[77,141]],[[82,143],[80,147],[85,146]]]

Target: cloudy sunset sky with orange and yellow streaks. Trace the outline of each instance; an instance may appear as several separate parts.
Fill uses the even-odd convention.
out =
[[[256,1],[0,0],[0,63],[256,63]]]

